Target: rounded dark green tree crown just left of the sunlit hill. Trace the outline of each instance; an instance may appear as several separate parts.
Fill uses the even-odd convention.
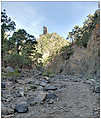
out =
[[[25,54],[30,55],[31,50],[35,49],[35,37],[29,35],[24,29],[14,32],[11,39],[15,41],[18,54],[25,52]]]

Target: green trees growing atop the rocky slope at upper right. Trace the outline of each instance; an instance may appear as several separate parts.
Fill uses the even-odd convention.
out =
[[[100,13],[97,10],[94,15],[89,14],[88,18],[84,21],[83,27],[75,25],[72,32],[69,32],[68,38],[75,42],[78,46],[87,47],[87,43],[90,39],[91,33],[96,24],[99,24]]]

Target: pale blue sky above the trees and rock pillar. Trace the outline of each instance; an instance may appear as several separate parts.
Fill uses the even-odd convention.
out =
[[[36,38],[43,33],[43,26],[48,32],[56,32],[66,38],[75,25],[82,26],[88,14],[98,9],[98,2],[2,2],[2,9],[16,23],[16,29],[25,29]]]

